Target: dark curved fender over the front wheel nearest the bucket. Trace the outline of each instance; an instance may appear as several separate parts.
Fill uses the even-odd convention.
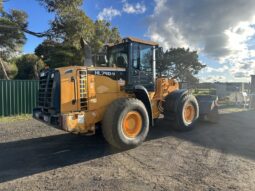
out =
[[[180,99],[186,94],[188,94],[187,89],[179,89],[167,95],[165,101],[167,100],[167,102],[170,102],[171,104],[170,107],[165,107],[166,112],[177,112],[178,103]]]

